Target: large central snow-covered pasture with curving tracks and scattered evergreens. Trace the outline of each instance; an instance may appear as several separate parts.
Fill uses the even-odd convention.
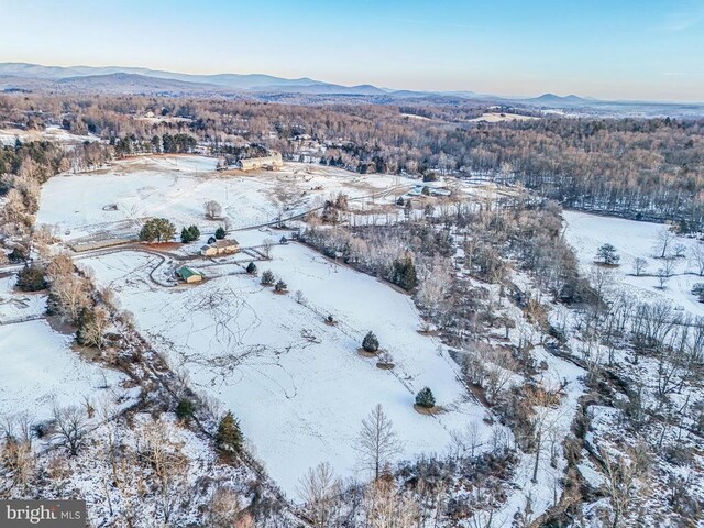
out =
[[[471,424],[485,441],[491,438],[484,410],[468,398],[448,351],[418,333],[421,321],[410,298],[298,244],[277,245],[273,256],[258,263],[260,272],[274,271],[288,284],[288,295],[246,274],[162,288],[146,276],[148,261],[156,258],[135,253],[82,264],[134,312],[139,329],[173,369],[185,370],[195,389],[234,413],[292,498],[300,476],[320,462],[330,462],[341,476],[370,476],[355,444],[362,419],[377,404],[403,440],[399,458],[443,452],[451,433]],[[328,315],[339,322],[327,324]],[[358,353],[369,330],[393,355],[393,371]],[[444,414],[414,410],[424,386],[432,388]]]

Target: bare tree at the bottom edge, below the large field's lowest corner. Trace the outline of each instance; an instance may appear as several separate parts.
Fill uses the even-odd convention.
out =
[[[298,494],[306,503],[314,526],[326,528],[333,516],[342,484],[328,462],[311,468],[300,480]]]

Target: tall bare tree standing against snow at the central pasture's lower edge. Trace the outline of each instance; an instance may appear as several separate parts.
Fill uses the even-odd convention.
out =
[[[402,449],[402,444],[394,432],[394,424],[384,413],[381,404],[362,420],[362,430],[358,442],[358,450],[362,464],[373,471],[378,480],[382,469]]]

